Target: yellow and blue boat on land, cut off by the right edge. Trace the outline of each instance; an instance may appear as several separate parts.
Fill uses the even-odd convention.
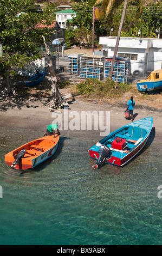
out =
[[[154,70],[144,80],[137,83],[137,88],[140,92],[149,92],[152,90],[159,90],[162,88],[162,69]]]

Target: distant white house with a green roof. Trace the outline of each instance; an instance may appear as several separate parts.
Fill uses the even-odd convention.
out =
[[[70,21],[73,19],[73,17],[76,16],[76,13],[72,9],[57,11],[57,13],[55,14],[56,14],[56,21],[59,23],[59,26],[61,28],[66,28],[67,20]]]

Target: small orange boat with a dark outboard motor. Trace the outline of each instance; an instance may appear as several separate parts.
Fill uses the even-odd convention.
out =
[[[19,170],[34,168],[55,154],[59,139],[51,135],[28,142],[6,154],[5,163]]]

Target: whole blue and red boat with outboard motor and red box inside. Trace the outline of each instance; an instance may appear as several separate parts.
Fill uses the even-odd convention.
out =
[[[110,133],[89,149],[90,157],[96,159],[94,169],[103,162],[124,166],[145,146],[153,125],[147,117],[127,124]]]

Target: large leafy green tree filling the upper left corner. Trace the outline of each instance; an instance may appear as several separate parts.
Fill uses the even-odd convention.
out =
[[[49,25],[53,20],[51,10],[34,12],[34,0],[1,0],[0,2],[0,42],[3,56],[0,57],[0,70],[7,81],[7,93],[12,84],[10,75],[17,68],[41,57],[37,47],[43,43],[42,34],[49,40],[53,32],[49,29],[36,29],[37,23],[46,20]],[[31,11],[32,9],[32,11]]]

